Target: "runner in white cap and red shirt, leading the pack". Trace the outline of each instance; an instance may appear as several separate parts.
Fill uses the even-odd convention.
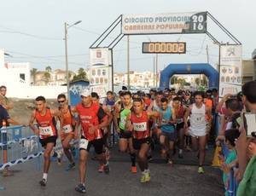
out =
[[[79,103],[73,112],[79,113],[79,124],[76,125],[75,135],[78,134],[81,124],[81,139],[79,144],[79,185],[75,190],[79,193],[86,193],[85,189],[85,171],[91,145],[94,147],[100,164],[106,174],[109,173],[109,164],[103,153],[104,141],[101,129],[108,126],[108,116],[102,107],[93,103],[90,90],[84,89],[81,93],[82,102]]]

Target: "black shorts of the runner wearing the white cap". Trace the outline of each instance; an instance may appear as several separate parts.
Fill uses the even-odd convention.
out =
[[[97,139],[97,140],[93,140],[93,141],[87,141],[86,140],[86,144],[85,146],[81,145],[81,141],[82,140],[86,140],[84,136],[81,136],[81,140],[80,140],[80,145],[79,145],[79,150],[86,150],[87,152],[90,151],[90,147],[91,145],[94,147],[95,149],[95,153],[96,154],[101,154],[103,153],[103,146],[104,146],[104,140],[103,138],[101,139]]]

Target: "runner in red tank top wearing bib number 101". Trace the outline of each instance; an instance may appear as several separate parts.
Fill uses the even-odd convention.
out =
[[[133,110],[127,116],[125,128],[132,131],[133,147],[137,150],[138,164],[142,171],[142,183],[150,181],[150,171],[148,169],[148,150],[151,142],[148,127],[150,117],[159,117],[159,112],[144,111],[143,100],[140,98],[134,99]]]

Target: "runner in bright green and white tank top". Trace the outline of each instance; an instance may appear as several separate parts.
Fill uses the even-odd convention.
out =
[[[134,153],[134,149],[132,147],[131,131],[125,130],[126,118],[128,114],[131,113],[131,107],[131,92],[126,91],[123,93],[123,101],[115,109],[114,118],[120,119],[119,124],[115,124],[116,131],[119,134],[119,150],[122,153],[126,153],[129,149],[131,157],[131,172],[137,173],[136,154]],[[117,122],[117,120],[114,120],[114,122]]]

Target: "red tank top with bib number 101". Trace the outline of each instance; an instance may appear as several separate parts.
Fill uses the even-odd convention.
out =
[[[134,112],[131,112],[131,124],[133,124],[133,137],[135,139],[141,140],[150,136],[146,111],[143,111],[142,117],[137,117]]]

